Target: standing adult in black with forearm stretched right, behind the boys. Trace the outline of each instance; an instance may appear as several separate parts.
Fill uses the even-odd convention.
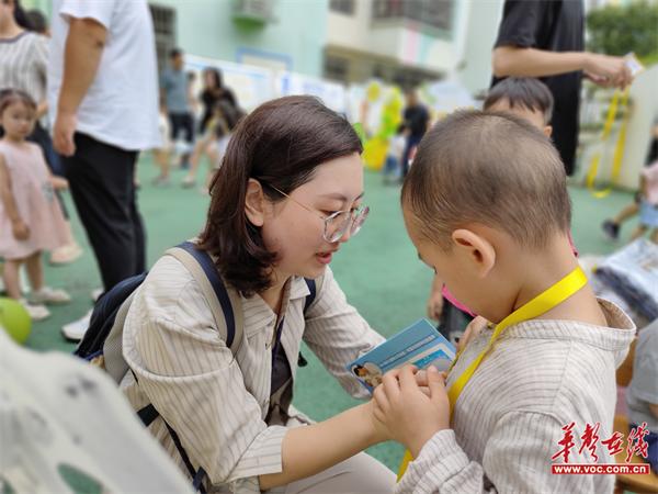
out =
[[[631,72],[622,57],[585,52],[581,0],[506,0],[494,47],[491,86],[504,77],[540,77],[548,86],[553,142],[567,175],[574,173],[582,76],[624,88]]]

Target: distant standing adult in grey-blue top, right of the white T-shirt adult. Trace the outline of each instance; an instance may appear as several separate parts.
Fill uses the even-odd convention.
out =
[[[160,91],[167,106],[171,141],[175,143],[181,132],[185,134],[188,149],[182,154],[181,166],[189,168],[190,154],[194,145],[194,117],[190,108],[188,89],[190,79],[188,72],[183,70],[183,52],[180,48],[169,52],[169,67],[162,71],[160,77]]]

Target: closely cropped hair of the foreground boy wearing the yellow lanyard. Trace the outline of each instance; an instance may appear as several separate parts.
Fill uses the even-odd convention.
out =
[[[564,166],[548,138],[503,112],[458,111],[430,130],[405,180],[401,202],[419,235],[450,250],[470,223],[508,233],[527,248],[568,232]]]

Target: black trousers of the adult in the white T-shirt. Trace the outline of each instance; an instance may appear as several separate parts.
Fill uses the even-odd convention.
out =
[[[63,157],[64,169],[107,291],[146,269],[146,239],[134,182],[138,151],[81,133],[73,139],[76,154]]]

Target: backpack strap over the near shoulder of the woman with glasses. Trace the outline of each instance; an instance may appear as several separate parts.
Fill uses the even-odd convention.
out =
[[[242,304],[238,293],[227,290],[211,256],[195,244],[184,242],[164,254],[178,259],[198,283],[217,328],[226,326],[226,346],[235,356],[242,345],[245,333]]]

